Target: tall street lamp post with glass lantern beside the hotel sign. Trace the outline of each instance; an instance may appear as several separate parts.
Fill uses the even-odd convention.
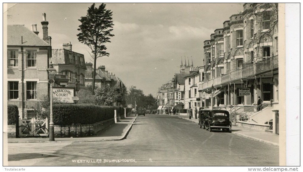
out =
[[[55,141],[55,131],[54,131],[54,120],[53,120],[53,83],[55,82],[55,75],[56,75],[56,69],[54,69],[52,62],[49,65],[49,68],[47,69],[47,75],[48,75],[48,82],[50,84],[50,96],[51,96],[51,113],[50,113],[50,120],[49,120],[49,141]]]

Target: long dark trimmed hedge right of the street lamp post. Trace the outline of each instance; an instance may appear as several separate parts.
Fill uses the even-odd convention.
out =
[[[124,114],[124,111],[123,111]],[[54,104],[55,125],[92,124],[114,118],[114,107],[93,104]]]

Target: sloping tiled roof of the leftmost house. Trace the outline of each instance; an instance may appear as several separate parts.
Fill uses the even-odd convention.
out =
[[[22,37],[22,43],[21,43]],[[50,46],[24,25],[7,25],[8,46]]]

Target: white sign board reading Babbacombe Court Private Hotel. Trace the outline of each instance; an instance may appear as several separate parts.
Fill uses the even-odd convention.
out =
[[[74,88],[53,88],[53,100],[61,103],[74,103]]]

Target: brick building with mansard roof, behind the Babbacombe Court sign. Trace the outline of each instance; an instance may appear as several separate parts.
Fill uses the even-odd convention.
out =
[[[57,71],[56,87],[85,88],[85,58],[83,54],[72,51],[71,43],[64,43],[62,49],[52,49],[50,59]]]

